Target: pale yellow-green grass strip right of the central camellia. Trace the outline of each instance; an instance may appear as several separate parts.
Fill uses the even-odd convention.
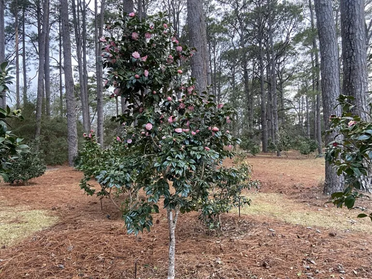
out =
[[[249,193],[248,197],[252,203],[241,208],[242,214],[272,217],[286,223],[315,228],[372,232],[371,220],[356,218],[357,211],[338,209],[332,204],[318,211],[274,193]],[[351,219],[356,220],[354,225],[349,221]]]

